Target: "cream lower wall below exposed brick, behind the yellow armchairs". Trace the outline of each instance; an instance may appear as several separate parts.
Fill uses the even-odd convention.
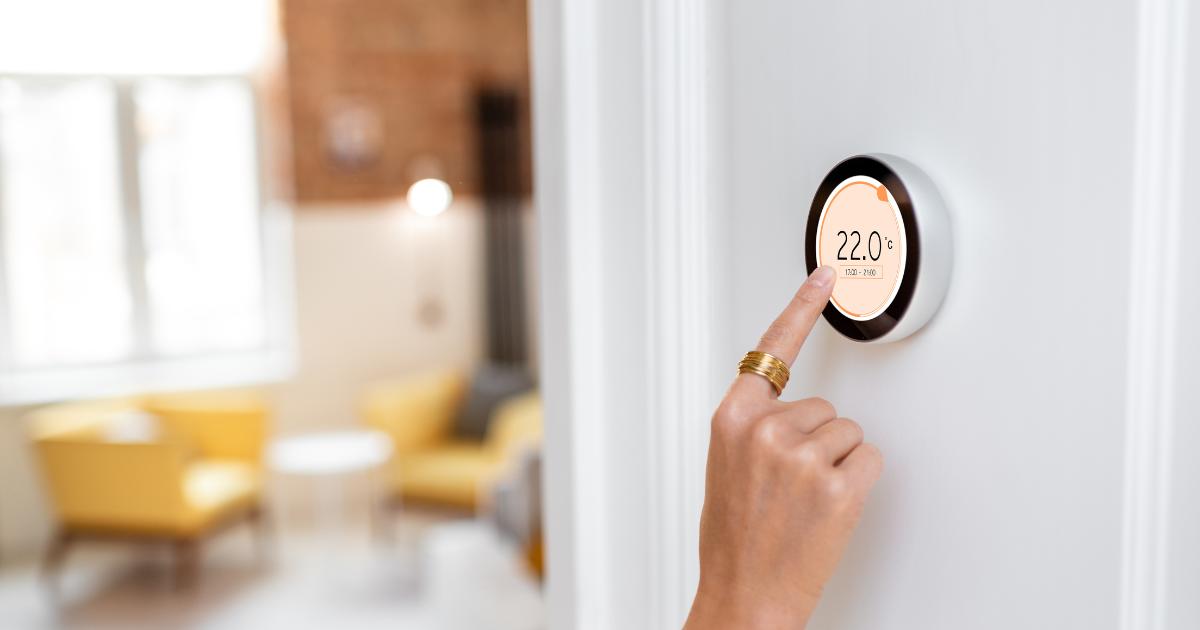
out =
[[[302,208],[295,214],[299,368],[271,388],[276,432],[354,424],[364,383],[482,353],[482,222],[458,203],[437,220],[402,205]],[[425,295],[443,304],[428,326]],[[37,552],[50,529],[20,421],[0,409],[0,562]]]

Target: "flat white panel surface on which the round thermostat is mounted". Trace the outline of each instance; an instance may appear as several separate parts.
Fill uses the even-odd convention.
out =
[[[1114,628],[1136,4],[751,0],[730,18],[728,246],[756,252],[734,259],[731,354],[803,278],[812,192],[842,157],[908,157],[953,220],[925,330],[864,346],[822,324],[793,371],[788,395],[829,398],[887,461],[812,628]]]

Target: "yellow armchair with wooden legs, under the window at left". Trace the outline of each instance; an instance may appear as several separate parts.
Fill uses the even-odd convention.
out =
[[[151,538],[175,542],[186,577],[204,536],[259,518],[266,420],[265,403],[240,392],[34,412],[31,438],[59,521],[46,568],[56,569],[80,538]]]

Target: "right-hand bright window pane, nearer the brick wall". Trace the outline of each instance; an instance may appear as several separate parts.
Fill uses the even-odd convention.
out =
[[[259,347],[266,322],[248,90],[155,80],[133,101],[152,349]]]

